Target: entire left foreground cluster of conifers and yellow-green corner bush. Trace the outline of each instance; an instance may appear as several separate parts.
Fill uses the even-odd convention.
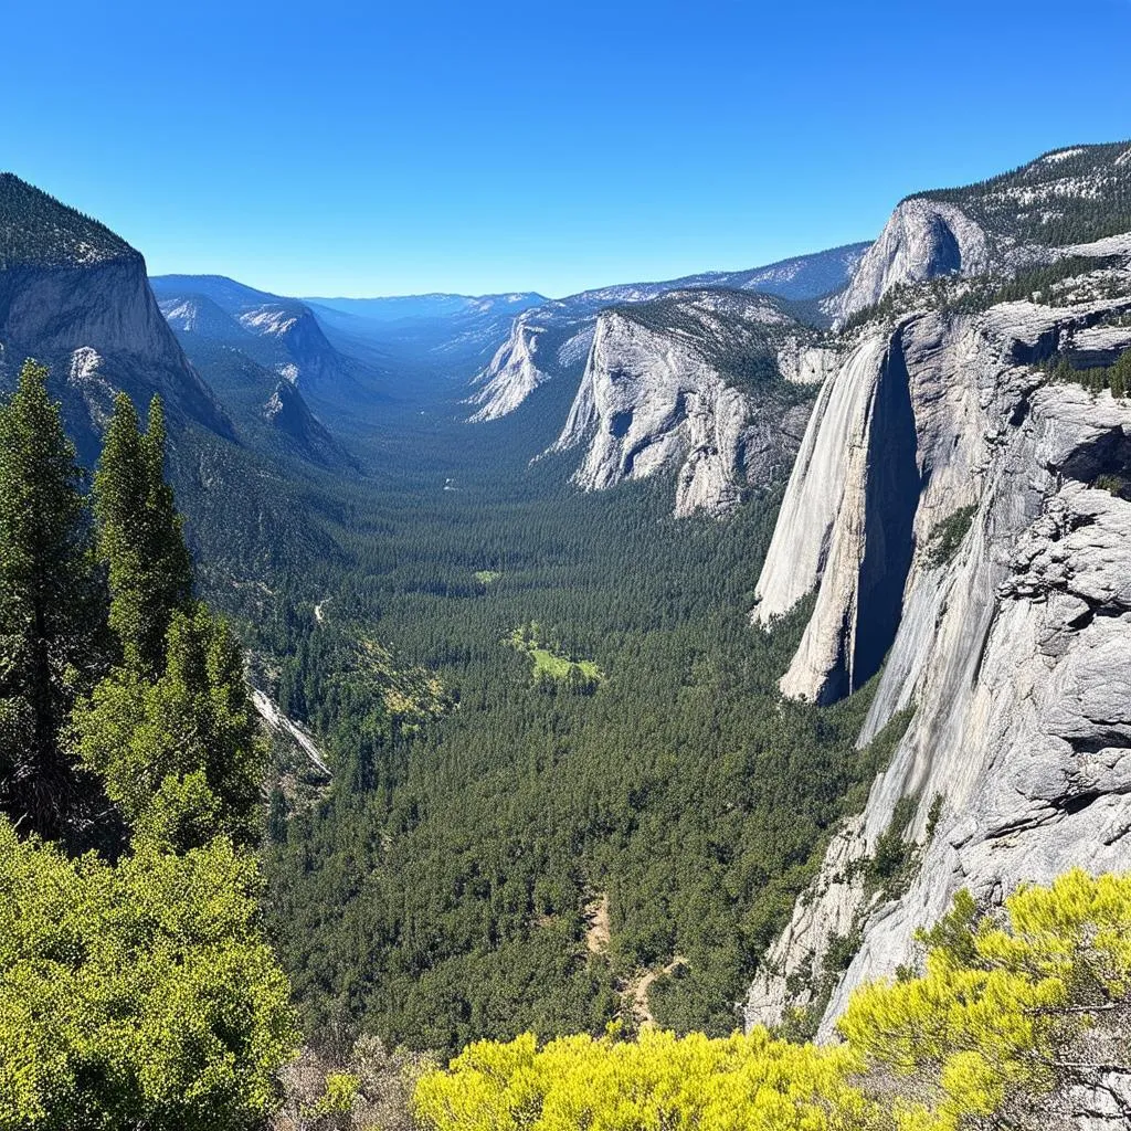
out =
[[[191,601],[159,404],[143,435],[119,398],[100,571],[45,379],[26,364],[0,408],[0,1131],[250,1131],[297,1033],[241,847],[261,768],[242,651]],[[100,783],[132,837],[68,858]]]

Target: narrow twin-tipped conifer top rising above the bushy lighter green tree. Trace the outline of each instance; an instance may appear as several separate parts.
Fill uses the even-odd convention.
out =
[[[188,608],[192,595],[183,523],[164,461],[161,398],[153,398],[143,433],[133,403],[120,392],[94,476],[94,511],[110,580],[110,625],[126,664],[148,676],[163,666],[174,611]]]

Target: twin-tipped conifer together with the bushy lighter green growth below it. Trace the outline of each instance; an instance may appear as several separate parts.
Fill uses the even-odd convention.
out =
[[[184,851],[217,835],[256,837],[262,748],[239,644],[192,599],[164,459],[159,399],[143,433],[119,394],[94,512],[121,663],[75,713],[74,734],[135,834]]]

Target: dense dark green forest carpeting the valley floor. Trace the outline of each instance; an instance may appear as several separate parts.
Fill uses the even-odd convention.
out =
[[[882,757],[853,749],[867,691],[780,702],[804,610],[748,623],[780,484],[727,523],[672,518],[667,482],[579,493],[529,464],[569,392],[485,426],[442,396],[355,425],[364,474],[307,473],[334,553],[211,594],[333,768],[275,786],[265,857],[312,1031],[728,1033]],[[525,625],[601,679],[539,676],[508,642]]]

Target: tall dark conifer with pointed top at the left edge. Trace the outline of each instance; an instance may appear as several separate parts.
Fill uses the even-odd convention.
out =
[[[0,804],[58,837],[75,797],[63,727],[97,667],[97,601],[75,448],[48,370],[0,407]]]

